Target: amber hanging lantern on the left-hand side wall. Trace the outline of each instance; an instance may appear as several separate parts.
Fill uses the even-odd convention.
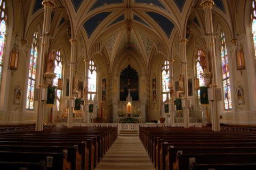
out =
[[[9,60],[9,68],[12,71],[12,75],[13,75],[13,71],[18,69],[18,61],[19,61],[19,46],[16,44],[16,39],[17,36],[15,37],[15,43],[12,47],[12,51],[10,53],[10,60]]]

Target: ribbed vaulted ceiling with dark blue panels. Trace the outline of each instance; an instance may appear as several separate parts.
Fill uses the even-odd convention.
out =
[[[133,49],[146,63],[156,54],[171,55],[173,40],[188,38],[187,25],[204,31],[201,0],[55,0],[52,20],[55,37],[68,30],[70,38],[82,39],[86,55],[104,52],[108,62]],[[226,15],[222,0],[214,11]],[[200,9],[200,10],[197,10]],[[43,13],[35,0],[33,15]],[[55,14],[56,13],[56,14]],[[66,26],[65,26],[66,25]],[[67,29],[68,27],[68,29]]]

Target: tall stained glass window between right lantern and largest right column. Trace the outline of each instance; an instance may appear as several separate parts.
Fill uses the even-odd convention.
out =
[[[221,31],[221,68],[222,68],[222,88],[224,95],[225,110],[232,109],[230,80],[229,80],[229,66],[226,38],[223,31]]]

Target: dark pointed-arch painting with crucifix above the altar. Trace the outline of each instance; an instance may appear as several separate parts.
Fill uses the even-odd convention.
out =
[[[139,76],[138,72],[130,66],[123,69],[120,74],[120,100],[126,101],[130,92],[132,100],[139,100]]]

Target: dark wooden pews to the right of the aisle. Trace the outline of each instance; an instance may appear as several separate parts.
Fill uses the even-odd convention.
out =
[[[140,127],[156,169],[256,169],[256,132],[209,127]]]

